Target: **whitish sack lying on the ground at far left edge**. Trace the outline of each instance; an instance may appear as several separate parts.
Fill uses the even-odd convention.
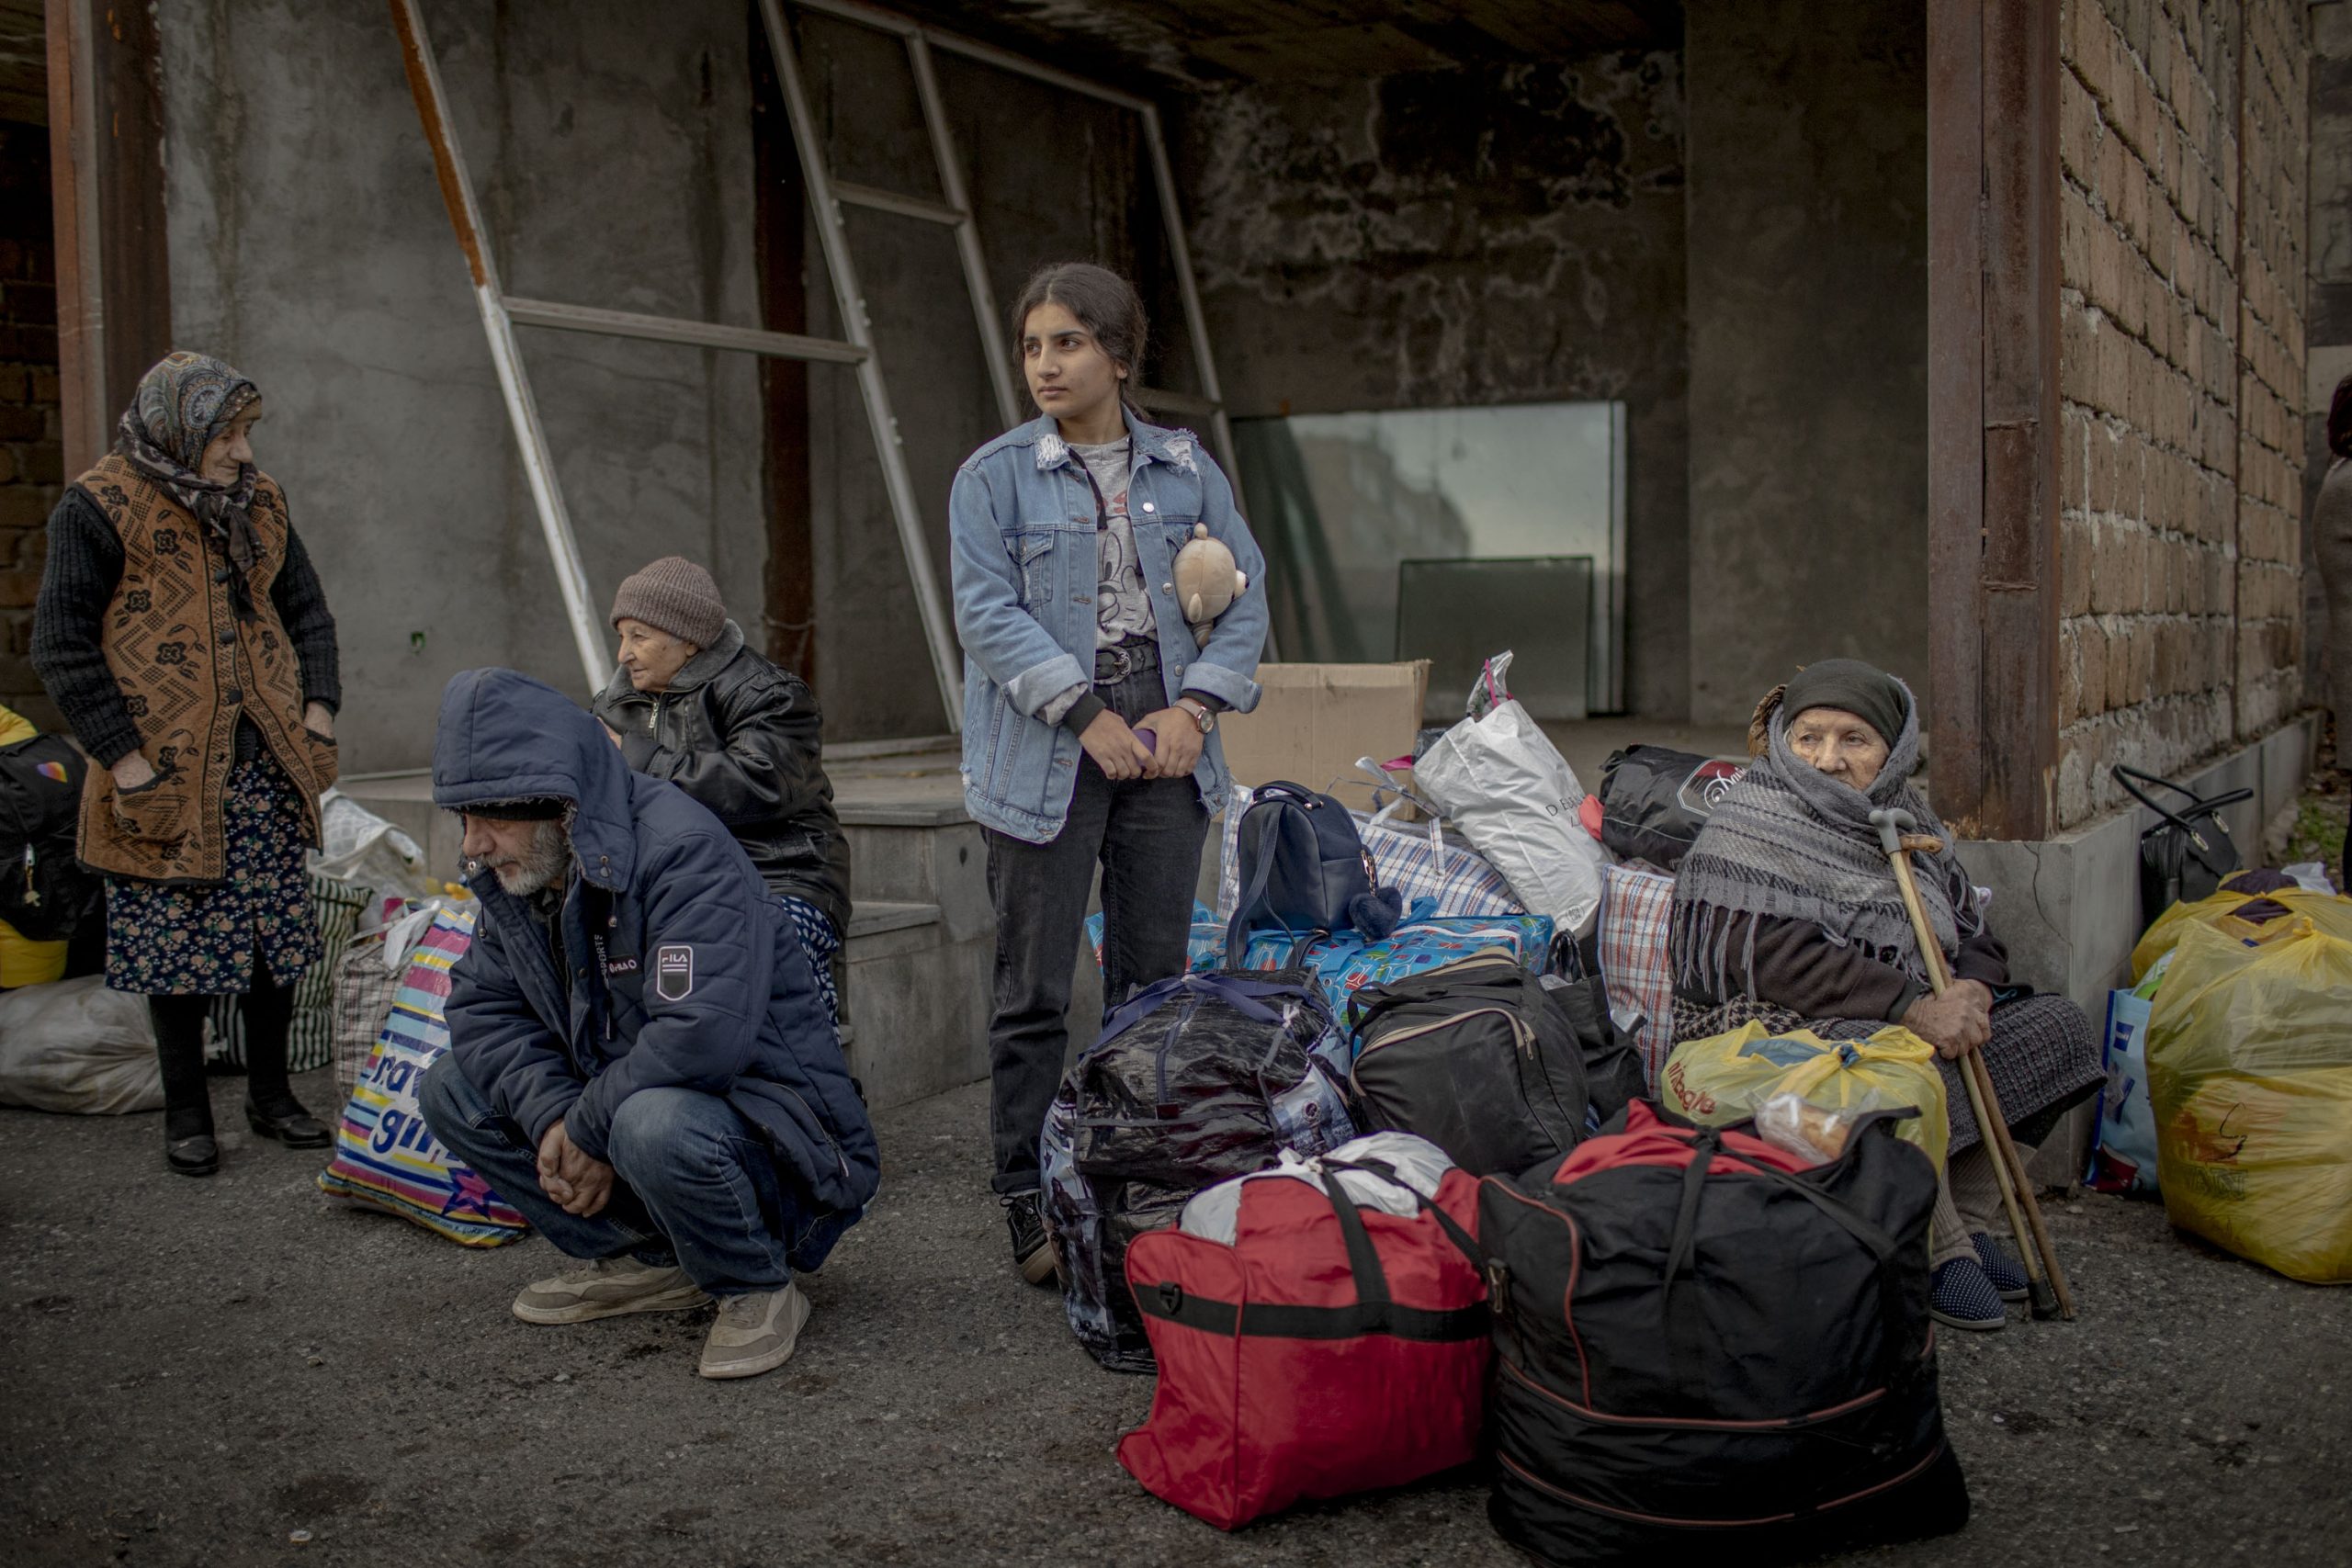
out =
[[[0,1105],[118,1117],[162,1110],[146,997],[106,976],[0,994]]]

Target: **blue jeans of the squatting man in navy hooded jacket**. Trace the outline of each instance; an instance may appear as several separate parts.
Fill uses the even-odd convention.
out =
[[[677,1262],[710,1295],[743,1295],[781,1291],[795,1267],[814,1269],[844,1229],[833,1215],[802,1218],[760,1133],[696,1088],[640,1088],[621,1100],[609,1150],[616,1180],[588,1218],[541,1190],[529,1133],[492,1110],[454,1058],[433,1063],[416,1105],[452,1154],[572,1258]]]

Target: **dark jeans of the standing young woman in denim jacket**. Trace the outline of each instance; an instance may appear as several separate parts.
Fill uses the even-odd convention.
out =
[[[1157,668],[1094,693],[1129,724],[1167,705]],[[1070,969],[1096,860],[1103,865],[1108,1009],[1136,985],[1183,973],[1207,837],[1209,813],[1190,778],[1112,783],[1087,755],[1077,762],[1070,816],[1051,844],[988,835],[988,896],[997,907],[988,1135],[997,1192],[1037,1187],[1037,1133],[1070,1044]]]

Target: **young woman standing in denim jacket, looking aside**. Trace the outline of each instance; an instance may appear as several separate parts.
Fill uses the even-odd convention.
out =
[[[1103,867],[1103,997],[1185,969],[1216,717],[1258,705],[1265,559],[1188,430],[1134,407],[1143,301],[1098,266],[1049,266],[1011,315],[1042,416],[974,451],[948,503],[964,644],[964,802],[997,910],[990,1138],[1014,1262],[1054,1274],[1037,1135],[1061,1081],[1070,964]],[[1209,524],[1249,592],[1195,644],[1171,559]],[[1138,738],[1150,731],[1150,738]]]

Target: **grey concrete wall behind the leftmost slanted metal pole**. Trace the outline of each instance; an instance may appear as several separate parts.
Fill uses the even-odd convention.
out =
[[[757,322],[746,7],[428,0],[515,294]],[[346,771],[423,764],[442,682],[583,679],[381,5],[162,7],[172,317],[263,393],[254,437],[343,651]],[[520,329],[597,623],[656,555],[760,621],[750,362]],[[757,637],[757,632],[755,632]]]

